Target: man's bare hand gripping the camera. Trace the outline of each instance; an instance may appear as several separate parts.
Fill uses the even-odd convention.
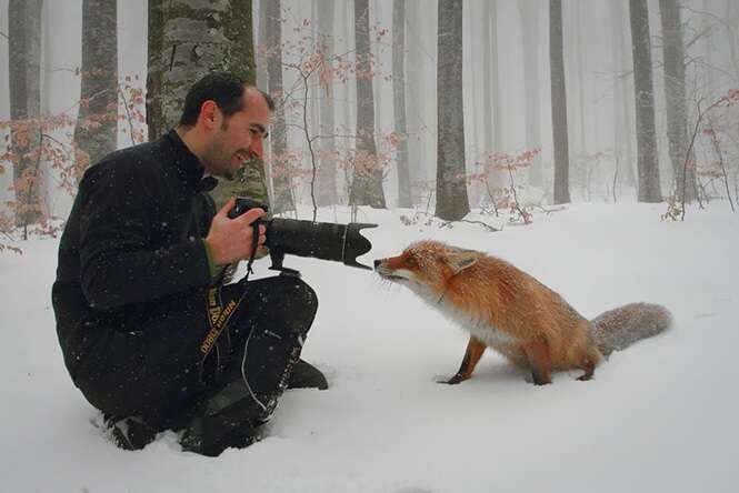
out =
[[[216,265],[226,265],[237,260],[246,260],[251,256],[253,227],[252,222],[264,215],[261,209],[250,209],[236,219],[229,219],[228,211],[233,209],[236,199],[231,198],[223,208],[218,211],[210,224],[210,231],[206,243],[210,248]],[[266,228],[259,224],[259,244],[267,241]]]

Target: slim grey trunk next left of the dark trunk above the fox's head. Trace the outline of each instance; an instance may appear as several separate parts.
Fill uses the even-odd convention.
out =
[[[408,165],[408,129],[406,128],[406,0],[392,3],[392,104],[398,134],[398,207],[413,205]]]

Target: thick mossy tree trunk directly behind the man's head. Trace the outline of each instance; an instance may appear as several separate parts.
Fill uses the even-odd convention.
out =
[[[204,73],[228,70],[254,83],[251,0],[149,0],[147,123],[149,139],[173,128],[187,91]],[[268,202],[264,167],[252,160],[238,181],[212,192]]]

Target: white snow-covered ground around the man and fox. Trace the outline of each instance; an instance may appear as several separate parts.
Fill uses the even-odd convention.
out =
[[[676,223],[660,221],[665,209],[572,204],[497,233],[362,211],[380,224],[366,230],[366,263],[439,239],[513,262],[586,316],[650,301],[675,326],[613,354],[591,382],[559,373],[535,386],[488,352],[470,381],[440,385],[461,361],[460,329],[369,271],[288,258],[319,294],[303,356],[331,388],[288,391],[269,437],[218,459],[181,452],[171,432],[124,452],[93,425],[57,344],[58,242],[18,243],[22,255],[0,253],[0,491],[737,491],[739,214],[716,202]]]

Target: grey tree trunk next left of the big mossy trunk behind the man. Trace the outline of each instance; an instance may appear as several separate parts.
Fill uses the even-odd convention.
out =
[[[82,82],[74,127],[80,171],[117,148],[117,13],[116,0],[82,2]]]

